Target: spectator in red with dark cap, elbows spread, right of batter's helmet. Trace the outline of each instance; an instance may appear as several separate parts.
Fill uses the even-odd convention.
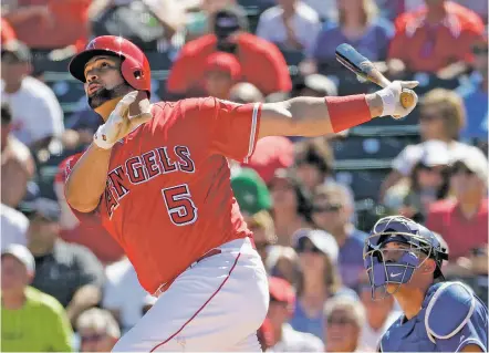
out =
[[[212,34],[188,42],[170,70],[167,91],[176,95],[202,94],[204,66],[216,51],[235,54],[241,64],[242,81],[252,83],[263,94],[289,92],[289,69],[279,49],[253,34],[246,33],[246,15],[236,8],[215,14]]]

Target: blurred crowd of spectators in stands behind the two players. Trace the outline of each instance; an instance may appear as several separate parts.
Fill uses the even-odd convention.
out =
[[[347,42],[418,107],[335,136],[266,137],[231,186],[270,276],[269,352],[374,352],[399,315],[373,301],[363,245],[403,215],[448,248],[447,279],[488,302],[488,2],[480,0],[4,0],[1,18],[1,349],[107,352],[155,298],[118,243],[80,222],[64,160],[101,117],[67,73],[96,35],[145,50],[152,101],[239,103],[367,93]]]

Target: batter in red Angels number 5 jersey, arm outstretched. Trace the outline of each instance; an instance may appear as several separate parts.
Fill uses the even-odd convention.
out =
[[[269,135],[320,136],[407,115],[393,82],[374,94],[236,104],[214,97],[149,104],[150,68],[129,41],[98,37],[70,63],[104,124],[66,164],[65,196],[124,248],[158,297],[114,351],[259,352],[267,274],[230,187],[228,159]],[[414,92],[413,92],[414,94]]]

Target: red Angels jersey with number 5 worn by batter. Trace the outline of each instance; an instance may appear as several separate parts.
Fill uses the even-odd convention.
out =
[[[149,293],[210,249],[251,237],[231,190],[228,158],[251,156],[260,113],[260,104],[210,97],[160,102],[150,122],[113,147],[97,209],[75,212],[81,221],[102,222]]]

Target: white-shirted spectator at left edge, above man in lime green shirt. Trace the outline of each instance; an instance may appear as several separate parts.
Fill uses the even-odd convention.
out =
[[[4,249],[12,243],[27,246],[27,231],[29,219],[17,209],[7,205],[0,205],[1,248]]]

